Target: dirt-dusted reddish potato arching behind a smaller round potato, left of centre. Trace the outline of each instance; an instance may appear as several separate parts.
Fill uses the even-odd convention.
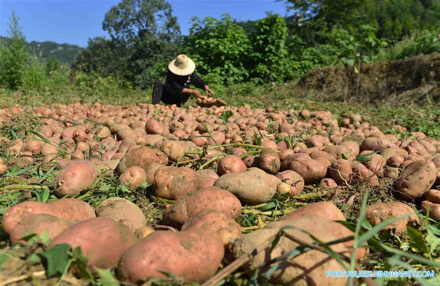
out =
[[[147,171],[148,167],[153,163],[166,165],[168,163],[168,157],[159,149],[141,146],[127,152],[127,154],[122,157],[115,171],[118,175],[121,175],[127,171],[128,168],[134,166],[141,167]]]

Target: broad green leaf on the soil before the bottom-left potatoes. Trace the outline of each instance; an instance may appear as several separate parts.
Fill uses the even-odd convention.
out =
[[[71,247],[68,244],[61,244],[55,245],[49,250],[38,253],[38,255],[41,256],[46,263],[47,277],[50,278],[56,274],[63,274],[69,264],[70,255],[67,251],[70,248]]]

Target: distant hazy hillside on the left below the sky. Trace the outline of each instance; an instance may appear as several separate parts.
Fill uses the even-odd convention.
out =
[[[9,38],[1,37],[1,42],[7,45]],[[53,41],[31,41],[26,42],[31,52],[40,55],[42,58],[56,58],[60,63],[70,63],[75,56],[83,50],[82,47],[71,44],[59,44]]]

